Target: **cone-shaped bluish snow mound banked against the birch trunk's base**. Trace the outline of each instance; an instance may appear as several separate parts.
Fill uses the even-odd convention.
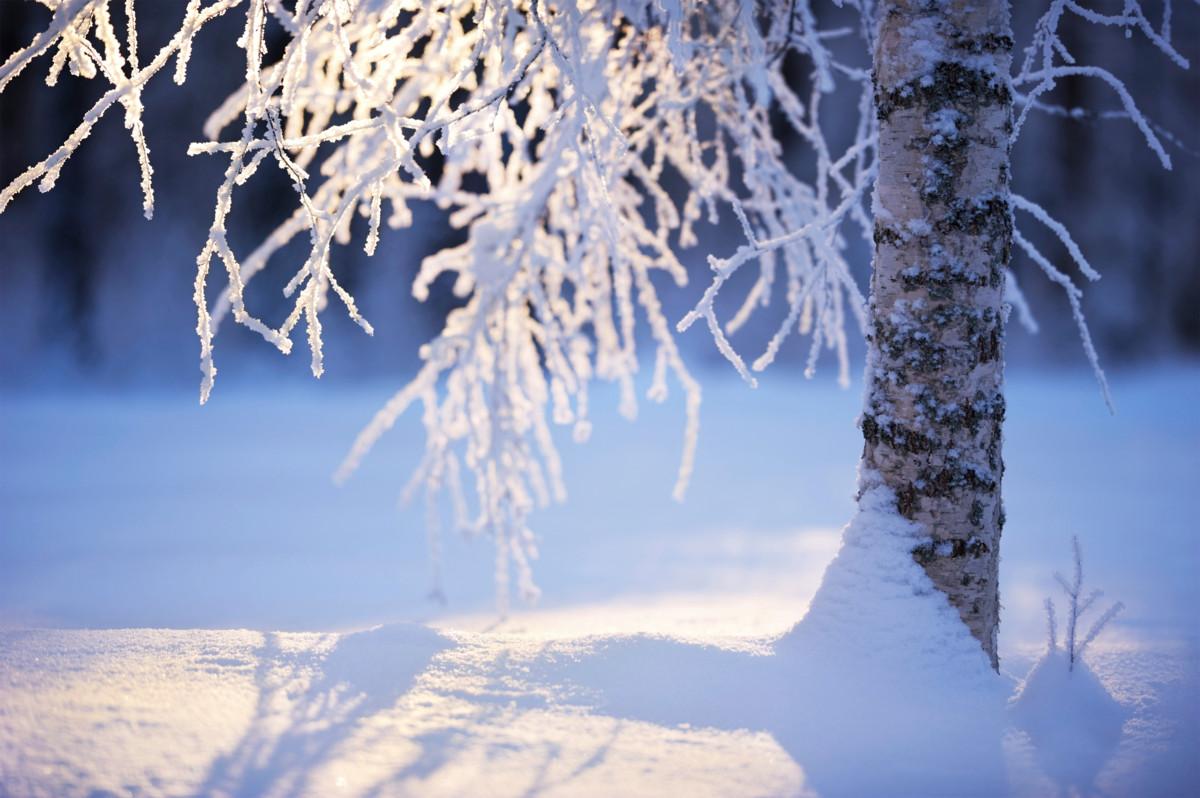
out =
[[[796,685],[782,737],[804,740],[799,761],[817,785],[1006,792],[1001,738],[1013,684],[913,562],[922,540],[868,475],[808,614],[775,646],[780,680]]]

